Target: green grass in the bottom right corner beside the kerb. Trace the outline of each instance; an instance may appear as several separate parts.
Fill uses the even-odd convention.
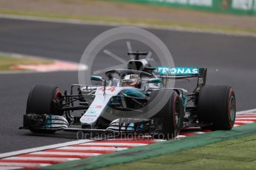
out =
[[[226,140],[183,152],[133,163],[108,166],[100,170],[115,169],[255,169],[256,135]]]

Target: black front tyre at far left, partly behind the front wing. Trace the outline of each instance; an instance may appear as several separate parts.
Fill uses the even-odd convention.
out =
[[[27,98],[26,114],[37,115],[63,115],[59,110],[62,103],[62,93],[57,86],[36,85],[30,91]],[[53,134],[56,130],[52,129],[30,129],[33,133]]]

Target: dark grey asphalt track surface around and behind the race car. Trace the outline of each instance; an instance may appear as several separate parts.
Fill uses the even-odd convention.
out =
[[[1,18],[0,51],[79,62],[82,52],[93,38],[111,28]],[[176,66],[208,67],[207,84],[232,85],[236,91],[238,111],[256,107],[256,38],[148,30],[171,50]],[[145,50],[145,47],[137,46],[135,50]],[[111,52],[127,58],[127,49],[120,44],[112,45]],[[99,58],[99,68],[110,63],[106,56]],[[1,74],[0,153],[76,139],[75,133],[33,135],[18,129],[22,126],[28,92],[34,84],[53,84],[69,89],[70,84],[76,83],[77,72]]]

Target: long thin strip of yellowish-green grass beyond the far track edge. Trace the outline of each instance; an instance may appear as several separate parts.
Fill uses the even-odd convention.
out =
[[[154,27],[176,27],[183,29],[194,29],[194,30],[205,30],[205,31],[221,31],[224,33],[249,33],[256,34],[255,29],[242,29],[234,27],[224,27],[224,26],[209,26],[203,24],[180,24],[177,22],[171,21],[162,21],[162,20],[151,20],[151,19],[134,19],[134,18],[114,18],[114,17],[105,17],[105,16],[79,16],[79,15],[70,15],[70,14],[59,14],[59,13],[39,13],[39,12],[30,12],[22,10],[6,10],[0,9],[1,14],[8,15],[18,15],[18,16],[33,16],[33,17],[45,17],[45,18],[61,18],[61,19],[76,19],[80,21],[91,21],[91,22],[101,22],[101,23],[112,23],[112,24],[126,24],[133,26],[154,26]]]

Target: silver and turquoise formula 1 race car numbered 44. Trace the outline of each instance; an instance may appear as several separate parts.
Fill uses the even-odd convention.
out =
[[[231,86],[206,86],[205,68],[152,67],[140,59],[147,54],[128,52],[135,59],[127,68],[108,70],[106,78],[91,75],[100,85],[73,84],[70,94],[67,90],[62,94],[57,86],[33,86],[21,129],[142,133],[165,139],[190,127],[232,129],[236,101]],[[190,78],[197,78],[191,94],[166,86],[169,80]]]

